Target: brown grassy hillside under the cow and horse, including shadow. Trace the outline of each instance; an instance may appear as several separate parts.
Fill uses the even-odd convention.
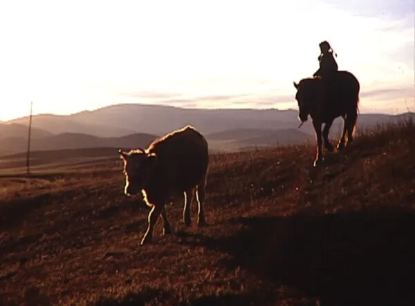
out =
[[[185,228],[176,201],[175,233],[144,247],[116,157],[3,176],[0,304],[413,305],[414,133],[360,135],[317,169],[314,146],[212,155],[210,225]]]

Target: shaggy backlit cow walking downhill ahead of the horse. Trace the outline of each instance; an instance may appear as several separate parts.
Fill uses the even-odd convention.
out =
[[[196,194],[198,224],[205,224],[203,201],[208,174],[208,143],[192,126],[185,126],[152,142],[145,150],[118,151],[124,160],[126,195],[142,192],[151,211],[141,244],[151,242],[154,226],[161,214],[164,233],[172,233],[165,204],[172,196],[184,193],[183,221],[190,226],[190,204]]]

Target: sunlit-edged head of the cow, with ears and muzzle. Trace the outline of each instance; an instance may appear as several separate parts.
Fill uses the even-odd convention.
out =
[[[156,163],[156,155],[154,153],[146,153],[142,149],[129,152],[118,150],[118,153],[120,153],[120,157],[124,161],[124,193],[126,195],[140,193],[145,188],[151,168]]]

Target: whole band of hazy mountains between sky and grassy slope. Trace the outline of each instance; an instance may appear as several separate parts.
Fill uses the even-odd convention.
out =
[[[302,144],[314,140],[310,122],[301,130],[298,112],[277,109],[187,109],[172,106],[118,104],[73,115],[33,116],[32,149],[79,149],[147,146],[158,135],[191,124],[208,139],[212,151],[239,151],[252,147]],[[401,115],[360,114],[359,128],[415,119]],[[0,123],[0,155],[26,150],[28,117]],[[332,135],[339,134],[336,119]]]

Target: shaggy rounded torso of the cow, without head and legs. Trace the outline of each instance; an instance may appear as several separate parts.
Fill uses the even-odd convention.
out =
[[[192,126],[174,131],[150,144],[158,158],[160,179],[169,189],[185,191],[198,184],[208,170],[208,142]]]

